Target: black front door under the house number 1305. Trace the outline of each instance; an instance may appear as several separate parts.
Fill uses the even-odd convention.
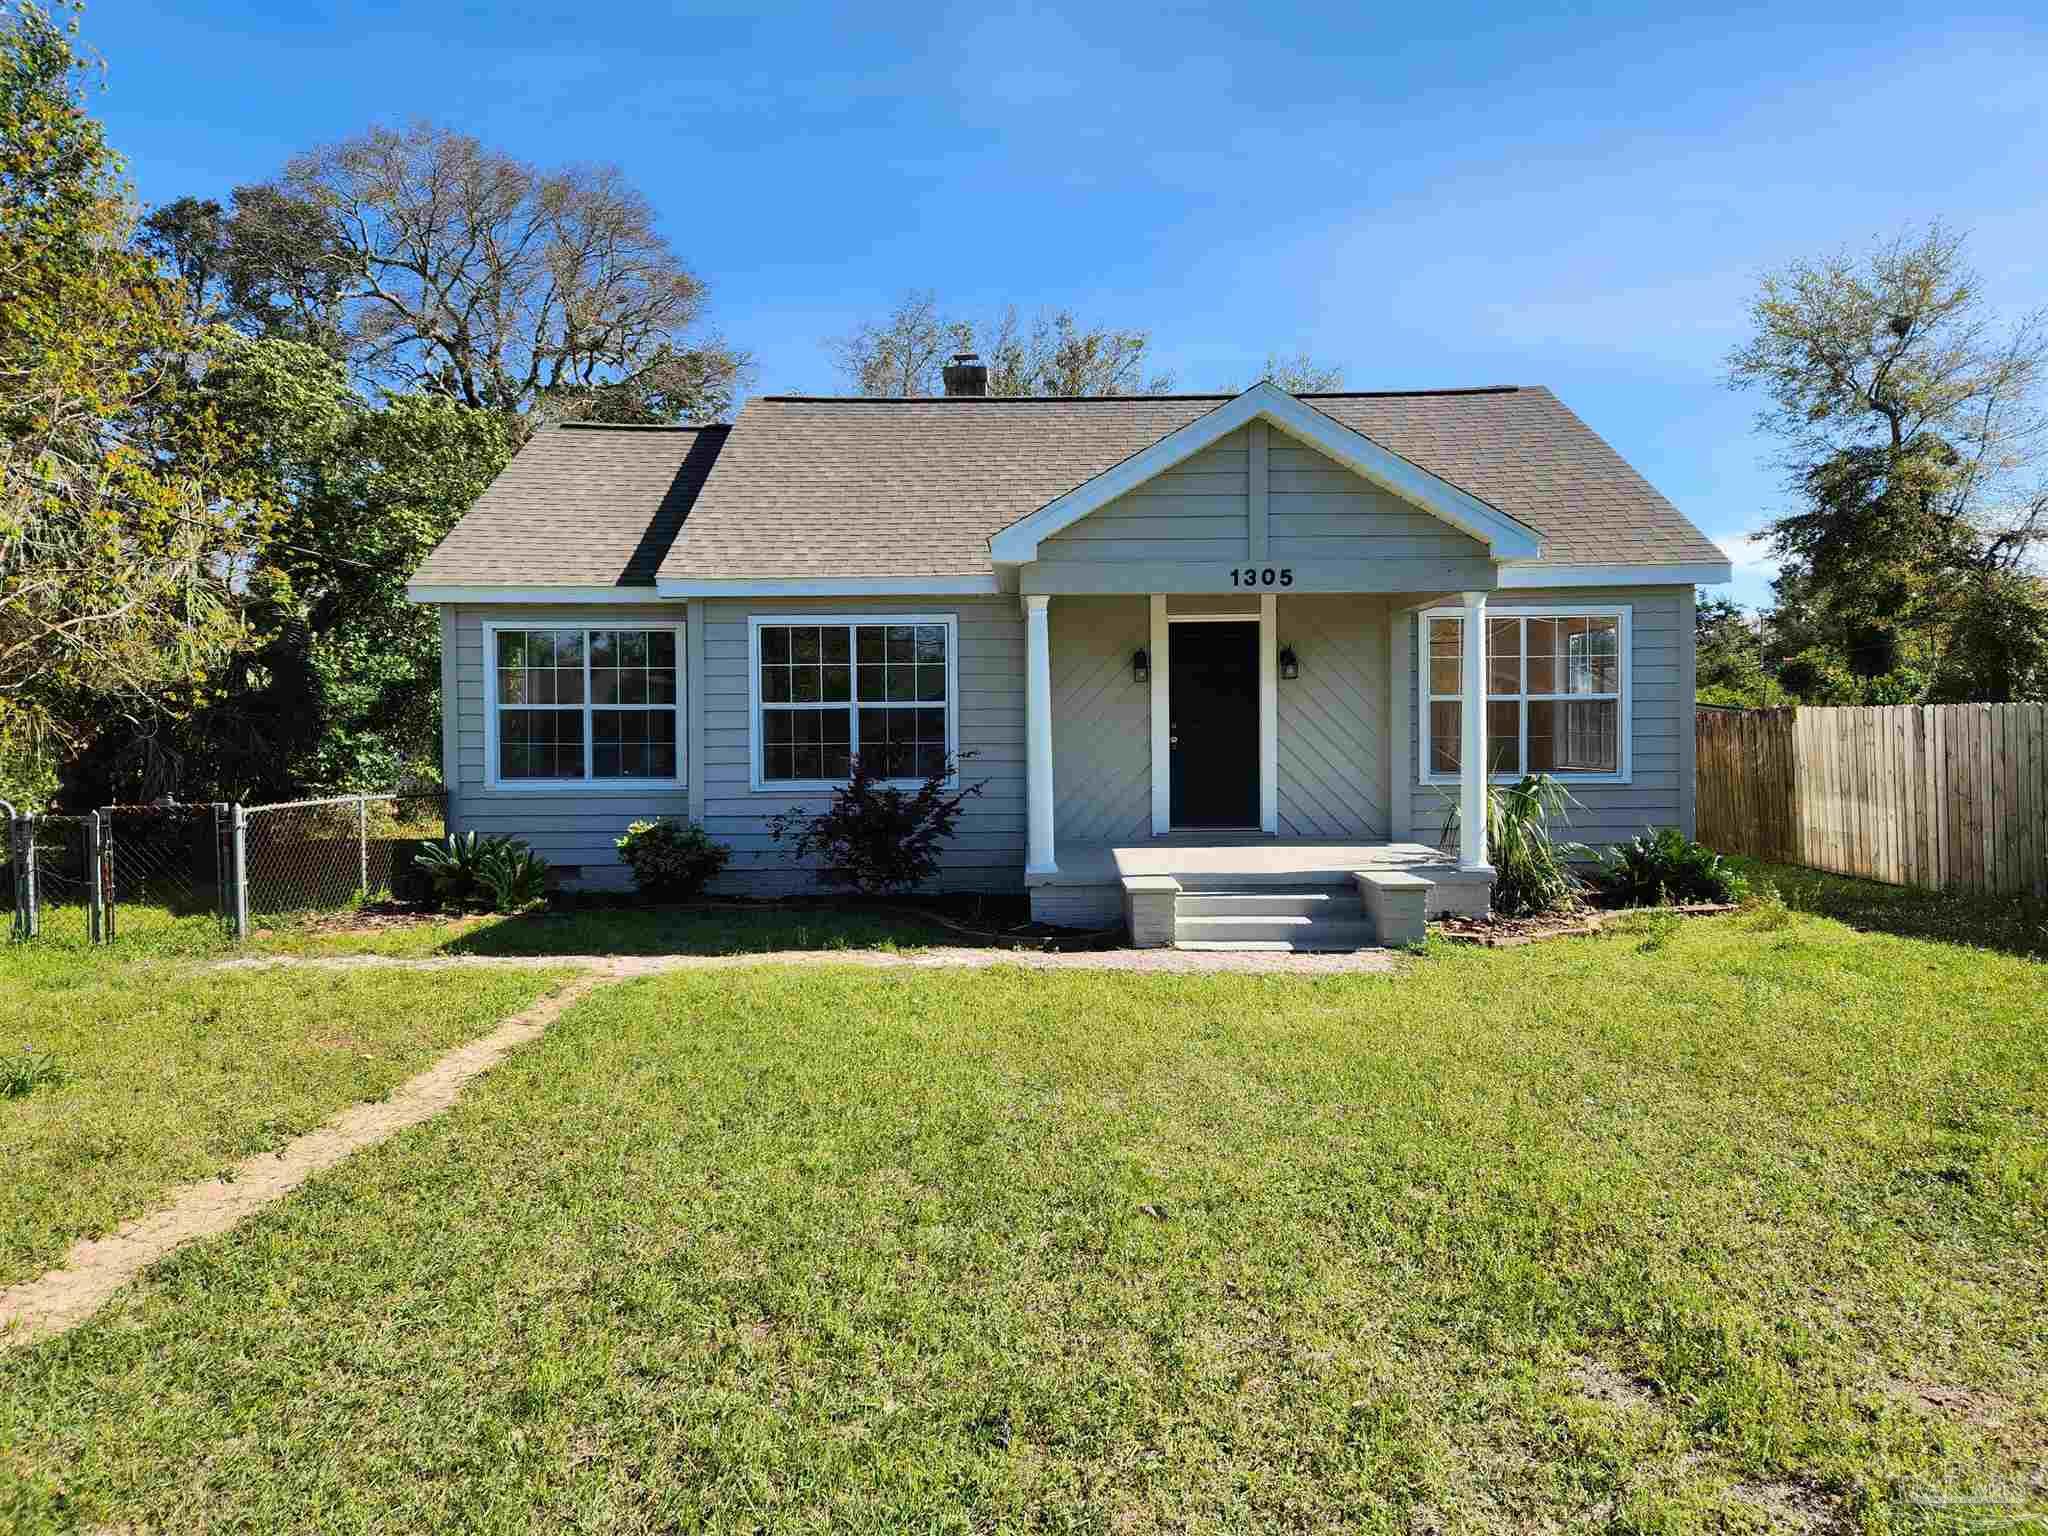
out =
[[[1176,827],[1260,823],[1260,627],[1174,625],[1167,741]]]

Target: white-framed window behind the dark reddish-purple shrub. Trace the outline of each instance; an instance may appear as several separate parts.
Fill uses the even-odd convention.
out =
[[[754,786],[928,778],[954,756],[950,616],[754,618]]]

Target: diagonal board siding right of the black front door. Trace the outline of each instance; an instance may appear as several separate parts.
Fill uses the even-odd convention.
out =
[[[1276,606],[1300,676],[1280,682],[1280,836],[1386,836],[1386,604],[1303,596]]]

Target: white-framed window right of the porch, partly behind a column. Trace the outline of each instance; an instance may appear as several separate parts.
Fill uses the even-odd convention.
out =
[[[1628,778],[1628,610],[1487,614],[1487,772]],[[1423,614],[1425,778],[1456,778],[1464,618]]]

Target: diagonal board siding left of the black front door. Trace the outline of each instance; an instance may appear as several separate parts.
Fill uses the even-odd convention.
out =
[[[1151,836],[1151,688],[1130,655],[1151,643],[1145,598],[1055,598],[1053,840]]]

